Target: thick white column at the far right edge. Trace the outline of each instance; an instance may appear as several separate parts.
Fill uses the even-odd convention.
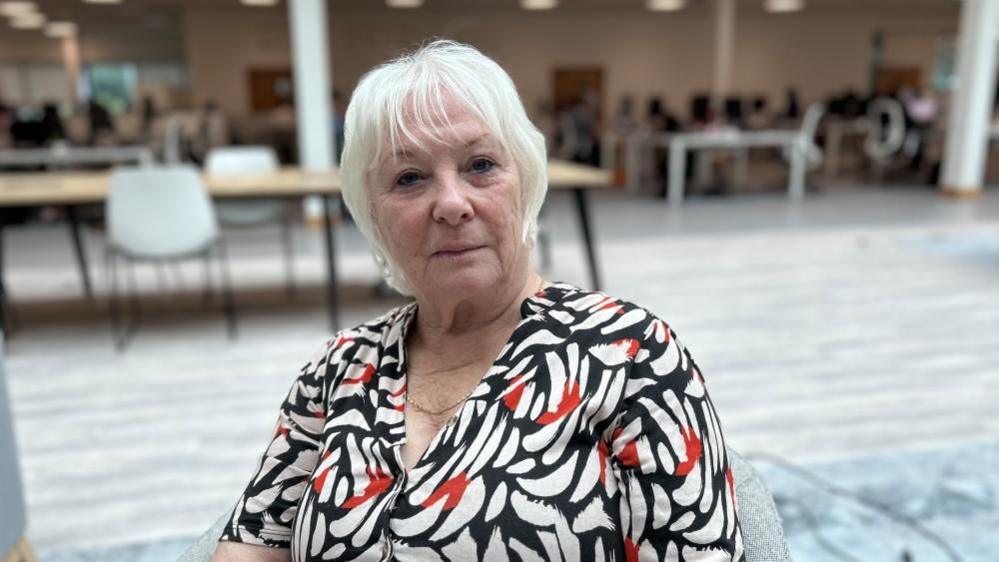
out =
[[[985,155],[996,78],[999,2],[964,0],[957,42],[957,88],[951,101],[940,188],[977,195],[985,180]]]

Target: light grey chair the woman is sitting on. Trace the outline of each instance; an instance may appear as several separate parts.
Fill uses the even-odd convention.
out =
[[[739,453],[729,449],[728,455],[735,477],[735,497],[739,504],[746,562],[791,562],[780,514],[766,484],[753,465]],[[228,522],[229,514],[223,515],[177,562],[208,562],[215,552],[222,527]]]

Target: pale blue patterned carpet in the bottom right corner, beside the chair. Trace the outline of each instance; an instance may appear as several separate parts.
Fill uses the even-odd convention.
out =
[[[795,560],[999,560],[999,441],[808,466],[821,483],[747,457]]]

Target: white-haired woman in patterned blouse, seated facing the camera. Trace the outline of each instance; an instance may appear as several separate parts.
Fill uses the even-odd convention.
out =
[[[544,139],[448,41],[369,72],[343,196],[415,302],[333,336],[214,560],[741,560],[704,380],[649,311],[549,283]]]

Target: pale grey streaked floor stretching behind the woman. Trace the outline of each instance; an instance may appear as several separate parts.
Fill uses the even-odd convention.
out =
[[[759,193],[679,210],[615,193],[592,211],[605,289],[677,330],[742,452],[838,478],[888,466],[876,459],[960,459],[999,441],[999,192],[959,201],[826,185],[800,204]],[[543,224],[555,256],[546,275],[586,286],[564,194]],[[276,233],[230,236],[235,341],[217,306],[201,305],[200,264],[165,272],[165,285],[140,270],[143,324],[116,353],[104,301],[80,298],[64,228],[5,234],[18,317],[7,371],[42,560],[167,560],[231,506],[297,368],[329,334],[318,233],[295,240],[300,287],[289,300]],[[101,233],[87,243],[103,295]],[[339,229],[338,252],[345,323],[401,302],[374,296],[377,271],[352,227]],[[904,477],[922,478],[918,467]],[[994,479],[975,485],[999,493]],[[976,524],[999,520],[987,497],[992,518]],[[801,544],[813,540],[786,515],[789,532],[805,529]]]

